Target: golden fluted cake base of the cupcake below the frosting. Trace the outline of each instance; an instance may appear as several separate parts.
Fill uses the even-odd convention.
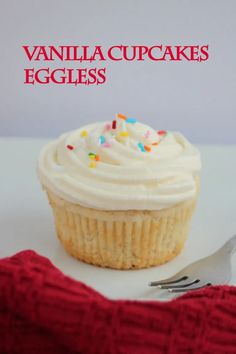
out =
[[[186,240],[196,198],[160,211],[103,211],[47,191],[56,232],[73,257],[101,267],[146,268],[174,258]]]

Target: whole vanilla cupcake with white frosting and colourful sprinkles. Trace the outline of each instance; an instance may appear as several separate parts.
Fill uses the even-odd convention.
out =
[[[183,135],[122,114],[63,134],[38,161],[64,248],[116,269],[151,267],[180,253],[200,168],[198,150]]]

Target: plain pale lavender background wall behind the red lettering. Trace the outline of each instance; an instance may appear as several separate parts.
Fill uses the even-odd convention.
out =
[[[0,7],[1,136],[54,137],[121,112],[193,142],[236,143],[236,1],[1,0]],[[36,65],[22,45],[160,43],[209,44],[210,58],[107,61],[101,86],[23,84],[24,68]]]

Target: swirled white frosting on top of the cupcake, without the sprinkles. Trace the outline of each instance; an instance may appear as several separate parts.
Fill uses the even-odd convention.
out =
[[[38,161],[43,186],[67,201],[103,210],[160,210],[195,196],[200,155],[181,134],[159,135],[122,119],[116,129],[107,124],[91,124],[47,144]],[[123,131],[128,136],[120,136]],[[101,144],[100,136],[111,146]],[[140,142],[151,151],[141,151]]]

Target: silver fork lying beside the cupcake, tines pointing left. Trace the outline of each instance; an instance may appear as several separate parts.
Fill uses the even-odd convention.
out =
[[[173,277],[152,281],[149,285],[167,289],[171,293],[180,293],[209,285],[227,284],[231,279],[230,258],[235,249],[236,235],[212,255],[189,264]]]

